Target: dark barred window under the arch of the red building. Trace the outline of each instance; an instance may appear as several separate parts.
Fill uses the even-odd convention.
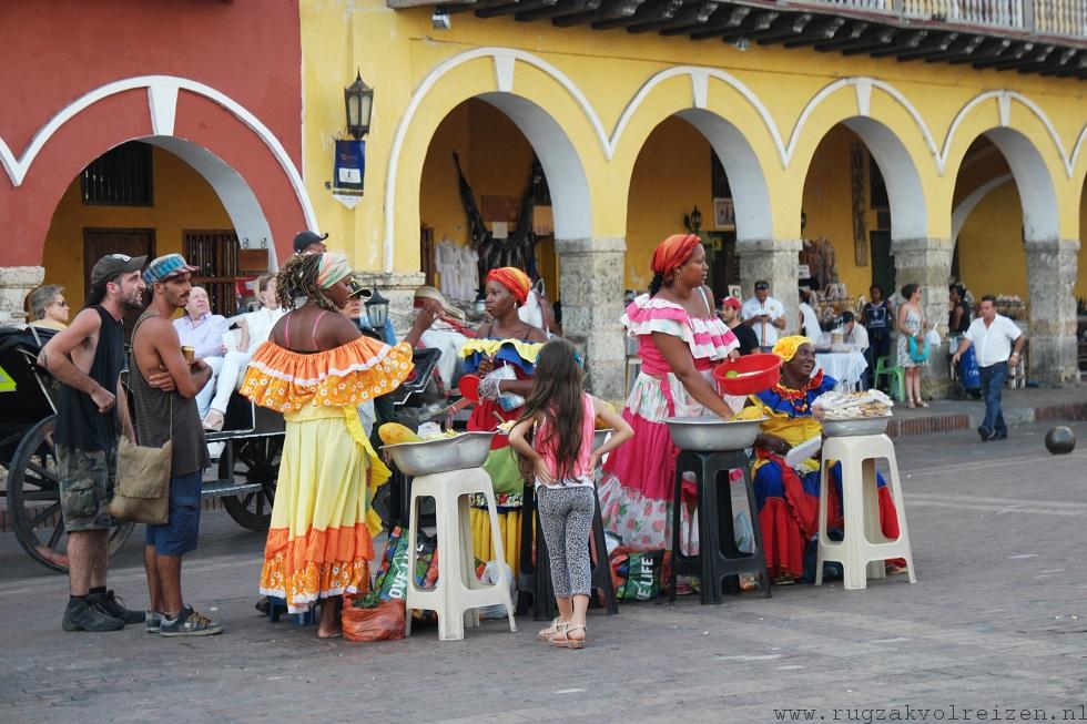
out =
[[[92,161],[80,174],[83,203],[154,206],[151,152],[149,144],[129,141]]]

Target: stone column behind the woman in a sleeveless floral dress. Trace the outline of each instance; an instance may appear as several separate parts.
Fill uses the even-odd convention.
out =
[[[947,397],[951,392],[947,284],[951,281],[954,248],[954,242],[946,238],[898,238],[891,243],[895,284],[900,289],[906,284],[921,286],[921,307],[925,318],[939,333],[939,347],[931,350],[928,369],[921,378],[922,394],[933,398]],[[887,289],[887,296],[892,293],[893,289]]]

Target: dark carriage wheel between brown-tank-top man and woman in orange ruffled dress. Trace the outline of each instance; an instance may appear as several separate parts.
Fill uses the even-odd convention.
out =
[[[272,524],[272,502],[275,500],[275,483],[280,477],[283,436],[242,438],[230,440],[227,445],[234,447],[234,469],[228,469],[228,456],[221,456],[220,480],[256,482],[261,489],[241,496],[224,496],[223,507],[243,528],[266,531]]]

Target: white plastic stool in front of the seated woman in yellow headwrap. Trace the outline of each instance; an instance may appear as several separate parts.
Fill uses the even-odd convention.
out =
[[[898,516],[898,540],[888,541],[880,530],[880,497],[876,487],[875,463],[886,459],[891,467],[886,483],[891,487],[894,507]],[[826,537],[827,486],[831,465],[842,463],[842,519],[845,530],[841,542]],[[917,582],[910,532],[906,529],[906,510],[902,500],[902,482],[898,463],[894,457],[894,443],[886,435],[859,435],[831,437],[823,440],[823,470],[819,490],[819,553],[815,562],[815,585],[823,583],[823,561],[837,561],[845,572],[845,589],[867,588],[867,579],[886,578],[884,560],[906,559],[910,582]]]

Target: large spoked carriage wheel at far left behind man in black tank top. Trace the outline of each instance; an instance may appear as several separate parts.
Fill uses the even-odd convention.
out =
[[[68,536],[60,514],[60,478],[53,451],[57,416],[51,415],[30,428],[8,468],[8,517],[16,539],[32,559],[54,571],[68,572]],[[110,529],[112,557],[132,533],[132,523]]]

